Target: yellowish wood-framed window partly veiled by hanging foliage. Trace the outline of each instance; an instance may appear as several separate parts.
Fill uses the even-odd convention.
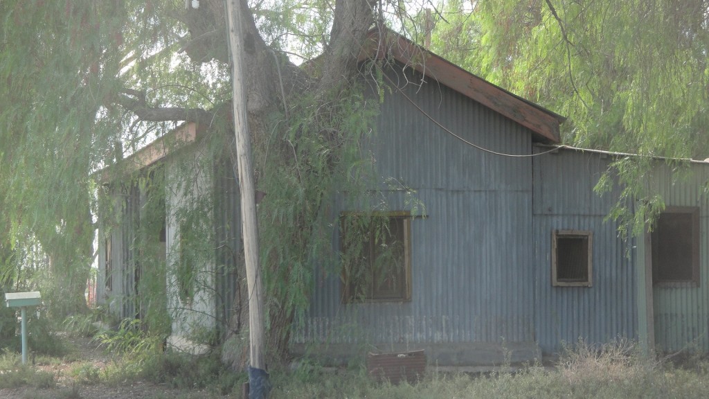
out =
[[[342,214],[342,302],[410,300],[410,242],[408,212]]]

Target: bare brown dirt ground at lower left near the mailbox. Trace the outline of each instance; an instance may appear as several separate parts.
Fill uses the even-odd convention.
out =
[[[190,398],[214,398],[213,395],[207,395],[199,390],[179,390],[170,388],[167,384],[155,384],[146,381],[125,381],[116,386],[106,386],[104,383],[82,384],[76,383],[70,375],[72,369],[80,364],[90,362],[94,367],[103,371],[106,365],[111,363],[111,355],[106,354],[103,349],[99,348],[96,342],[91,339],[72,338],[69,339],[74,346],[72,356],[66,356],[67,359],[76,359],[75,361],[67,361],[59,365],[36,365],[38,370],[49,371],[54,373],[56,386],[54,388],[39,389],[30,386],[21,388],[4,388],[0,389],[0,398],[2,399],[49,399],[49,398],[64,398],[64,399],[190,399]],[[28,359],[30,362],[31,358]],[[225,397],[228,398],[228,397]]]

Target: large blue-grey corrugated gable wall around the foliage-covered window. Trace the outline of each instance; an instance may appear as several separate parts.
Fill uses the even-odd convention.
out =
[[[407,79],[421,82],[420,76]],[[504,153],[531,151],[527,129],[447,87],[408,84],[404,91],[469,141]],[[427,215],[411,223],[412,300],[342,305],[337,268],[326,266],[334,273],[316,274],[311,312],[294,341],[533,341],[531,160],[464,145],[401,94],[385,97],[367,148],[379,175],[416,190]],[[384,195],[391,210],[404,209],[402,192]],[[335,209],[352,210],[342,203],[340,198]],[[339,245],[337,231],[333,245]]]

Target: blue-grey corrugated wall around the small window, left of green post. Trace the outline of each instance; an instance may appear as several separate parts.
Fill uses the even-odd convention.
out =
[[[534,159],[534,247],[536,337],[542,351],[562,341],[590,344],[637,337],[635,270],[617,224],[603,222],[618,192],[593,192],[610,159],[561,150]],[[552,231],[593,231],[593,286],[552,286]],[[631,243],[632,245],[632,243]],[[635,256],[635,253],[630,253]]]

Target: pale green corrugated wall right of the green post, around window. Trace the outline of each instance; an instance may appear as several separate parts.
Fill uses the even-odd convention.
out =
[[[709,351],[709,207],[702,189],[709,180],[709,165],[693,164],[691,176],[676,181],[671,168],[659,165],[652,178],[666,206],[700,207],[700,283],[654,286],[655,344],[661,351]]]

